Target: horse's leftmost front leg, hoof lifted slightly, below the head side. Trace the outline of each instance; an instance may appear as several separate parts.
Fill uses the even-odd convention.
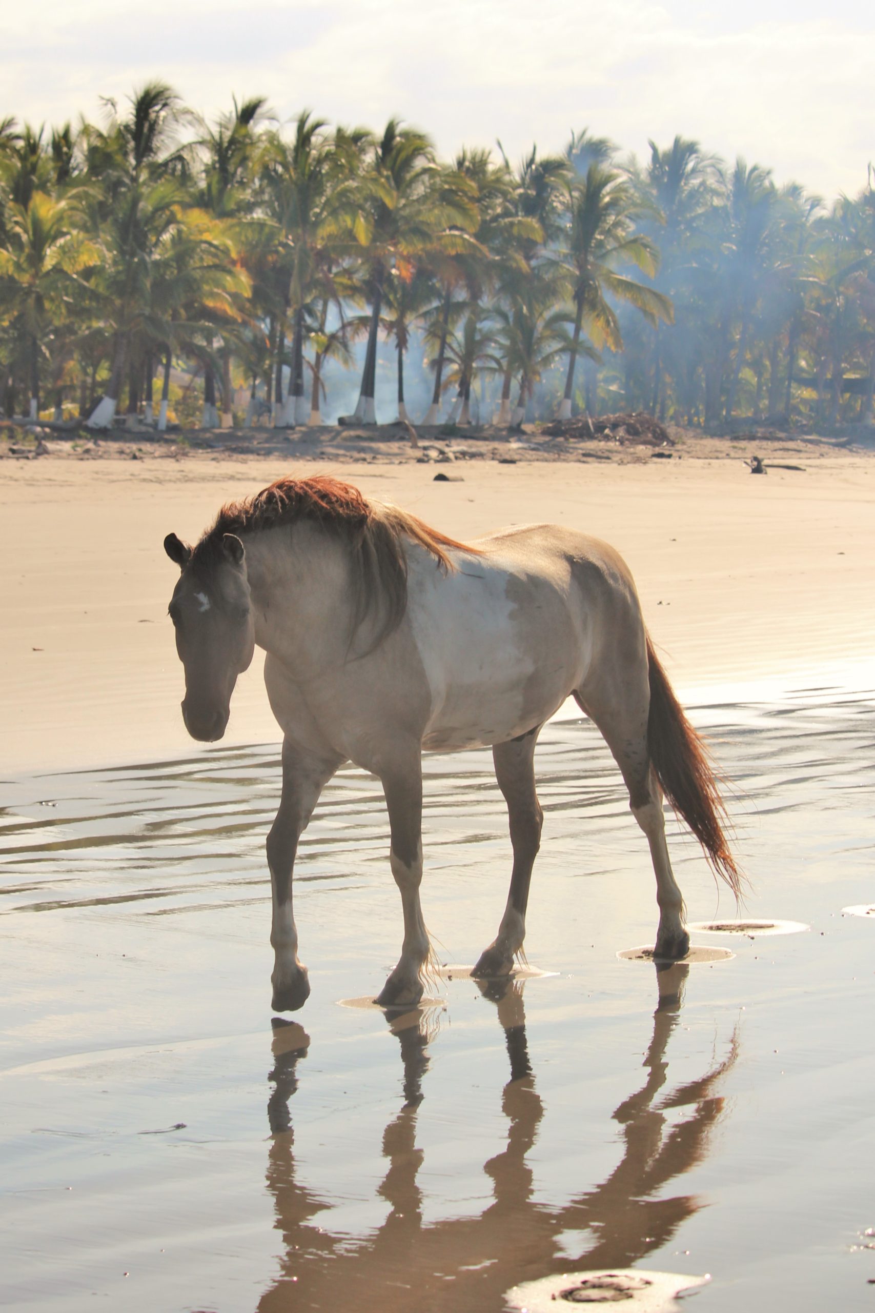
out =
[[[307,827],[319,794],[341,764],[299,750],[289,739],[282,746],[282,798],[268,835],[268,865],[273,895],[270,944],[274,951],[273,1007],[294,1012],[310,995],[307,968],[298,958],[298,931],[291,906],[291,874],[298,840]]]

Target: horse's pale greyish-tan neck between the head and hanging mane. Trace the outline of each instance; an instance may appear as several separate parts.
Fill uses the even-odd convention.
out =
[[[349,635],[349,567],[341,545],[296,525],[245,537],[256,643],[302,675],[342,659]]]

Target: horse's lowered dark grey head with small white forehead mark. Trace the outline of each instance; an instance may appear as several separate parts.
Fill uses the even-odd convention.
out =
[[[254,651],[254,621],[240,538],[226,533],[207,559],[168,533],[164,550],[181,570],[169,613],[185,667],[182,720],[192,738],[214,743],[224,734],[231,693]]]

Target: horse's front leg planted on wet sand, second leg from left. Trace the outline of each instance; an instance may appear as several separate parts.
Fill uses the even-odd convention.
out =
[[[392,832],[390,863],[401,894],[404,944],[397,966],[376,1002],[382,1007],[405,1007],[422,998],[420,973],[429,956],[429,936],[420,907],[422,881],[422,765],[416,755],[405,756],[391,771],[380,771],[388,822]]]

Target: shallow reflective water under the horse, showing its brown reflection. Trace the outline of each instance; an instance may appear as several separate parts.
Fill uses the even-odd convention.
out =
[[[429,1007],[341,1007],[400,948],[379,788],[325,790],[296,874],[312,995],[272,1027],[275,750],[7,781],[0,811],[0,1300],[80,1310],[491,1313],[560,1271],[712,1275],[697,1308],[868,1309],[875,1280],[875,699],[699,708],[735,781],[728,961],[621,961],[653,878],[588,723],[538,750],[527,953]],[[495,934],[509,843],[489,755],[426,759],[442,962]],[[691,920],[718,903],[672,826]],[[707,955],[706,955],[707,956]],[[450,973],[453,974],[453,973]]]

